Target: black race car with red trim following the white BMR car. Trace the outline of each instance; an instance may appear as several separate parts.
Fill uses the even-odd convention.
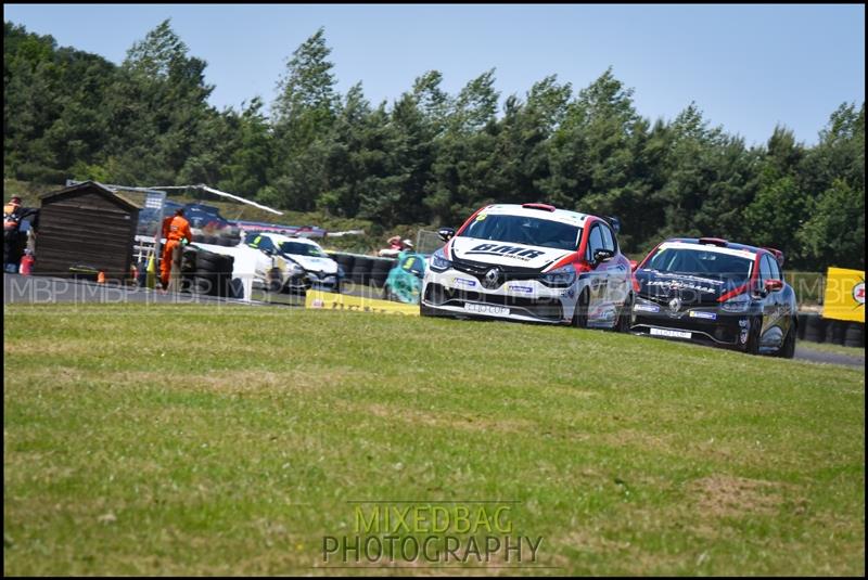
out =
[[[672,239],[634,271],[630,331],[792,358],[795,293],[783,254],[716,237]]]

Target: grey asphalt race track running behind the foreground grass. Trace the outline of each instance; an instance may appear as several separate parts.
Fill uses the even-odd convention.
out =
[[[355,294],[355,293],[354,293]],[[230,298],[217,298],[196,294],[169,294],[148,288],[125,287],[112,284],[94,284],[49,276],[25,276],[21,274],[3,274],[3,304],[55,304],[55,302],[104,302],[104,304],[202,304],[233,306],[280,306],[293,307],[302,304],[283,301],[264,302],[244,301]],[[865,351],[852,349],[854,355],[822,352],[796,346],[795,358],[812,362],[843,364],[847,366],[865,366]],[[858,353],[858,355],[856,355]]]

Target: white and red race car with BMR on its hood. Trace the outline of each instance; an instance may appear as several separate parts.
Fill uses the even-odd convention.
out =
[[[447,243],[429,259],[422,315],[629,330],[630,263],[605,219],[497,204],[439,235]]]

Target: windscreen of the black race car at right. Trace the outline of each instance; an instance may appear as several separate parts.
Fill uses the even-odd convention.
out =
[[[753,260],[701,247],[660,248],[642,266],[642,270],[655,270],[671,274],[690,274],[731,281],[751,278]]]

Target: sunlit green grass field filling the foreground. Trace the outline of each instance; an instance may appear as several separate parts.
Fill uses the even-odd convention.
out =
[[[447,571],[865,572],[858,369],[297,309],[4,322],[7,575],[316,575],[354,501],[495,499],[546,568]]]

